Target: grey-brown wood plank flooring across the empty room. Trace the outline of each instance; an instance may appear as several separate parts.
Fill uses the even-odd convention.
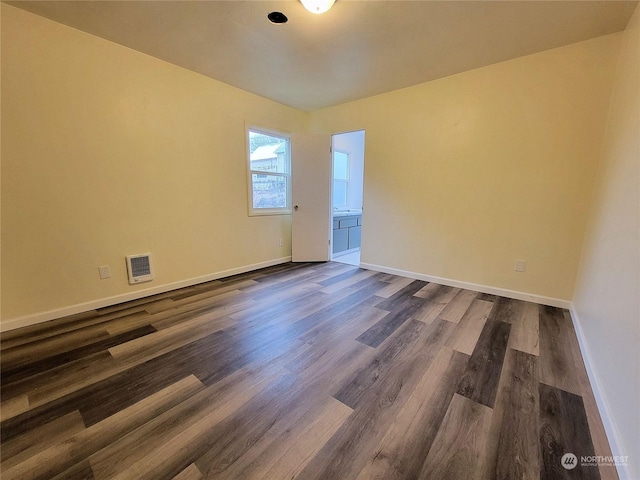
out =
[[[4,480],[618,478],[558,308],[285,264],[0,349]]]

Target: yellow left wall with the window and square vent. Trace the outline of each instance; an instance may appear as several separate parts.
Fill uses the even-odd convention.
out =
[[[244,128],[307,120],[3,4],[3,321],[291,255],[290,216],[247,216]]]

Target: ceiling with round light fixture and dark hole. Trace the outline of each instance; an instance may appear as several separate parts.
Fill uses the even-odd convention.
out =
[[[637,1],[10,1],[311,111],[625,28]],[[267,14],[280,11],[285,25]]]

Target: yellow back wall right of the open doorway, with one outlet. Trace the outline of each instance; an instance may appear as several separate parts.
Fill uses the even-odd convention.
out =
[[[570,300],[619,41],[313,112],[366,129],[362,261]]]

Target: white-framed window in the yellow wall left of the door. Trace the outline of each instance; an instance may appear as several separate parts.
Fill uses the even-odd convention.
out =
[[[290,150],[287,135],[249,129],[249,215],[291,213]]]

